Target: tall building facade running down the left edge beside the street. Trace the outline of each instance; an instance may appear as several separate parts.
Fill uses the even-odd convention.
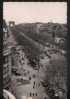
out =
[[[11,50],[8,48],[8,29],[3,21],[3,88],[9,90],[11,85]]]

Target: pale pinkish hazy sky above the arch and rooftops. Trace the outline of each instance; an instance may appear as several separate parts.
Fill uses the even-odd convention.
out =
[[[67,23],[66,2],[4,2],[3,18],[23,22]]]

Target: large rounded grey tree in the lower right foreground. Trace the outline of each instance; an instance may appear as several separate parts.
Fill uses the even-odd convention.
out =
[[[53,98],[55,92],[62,91],[64,98],[66,99],[66,79],[67,79],[67,62],[66,58],[61,55],[55,55],[48,66],[46,66],[46,76],[43,82],[46,93]],[[60,99],[60,98],[59,98]]]

